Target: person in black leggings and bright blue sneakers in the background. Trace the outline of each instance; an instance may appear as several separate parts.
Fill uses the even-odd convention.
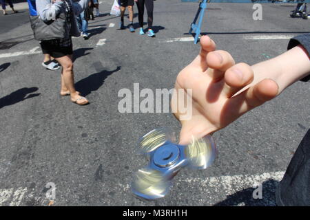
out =
[[[147,36],[154,37],[155,33],[152,29],[153,27],[153,9],[154,9],[154,0],[134,0],[136,1],[136,5],[138,7],[138,21],[140,25],[140,32],[139,34],[145,34],[143,30],[143,16],[144,16],[144,5],[147,10],[147,26],[148,32]]]

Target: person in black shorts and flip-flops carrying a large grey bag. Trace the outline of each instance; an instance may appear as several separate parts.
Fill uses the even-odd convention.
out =
[[[43,50],[53,56],[61,65],[61,96],[70,96],[72,102],[76,104],[87,104],[88,100],[81,96],[74,87],[73,72],[73,47],[72,36],[80,36],[76,16],[81,14],[87,7],[88,0],[73,2],[72,0],[36,0],[37,12],[43,21],[53,19],[52,14],[65,14],[66,30],[68,36],[63,39],[41,41]]]

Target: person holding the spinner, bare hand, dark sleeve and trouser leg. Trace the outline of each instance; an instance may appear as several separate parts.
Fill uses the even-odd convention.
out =
[[[209,36],[202,36],[200,44],[200,54],[175,84],[176,89],[192,89],[192,118],[181,120],[187,112],[178,109],[178,97],[172,96],[172,112],[182,124],[179,144],[223,129],[296,81],[310,80],[310,34],[294,37],[287,52],[252,66],[236,64],[228,52],[216,50]],[[310,206],[310,129],[280,181],[276,201],[278,206]]]

